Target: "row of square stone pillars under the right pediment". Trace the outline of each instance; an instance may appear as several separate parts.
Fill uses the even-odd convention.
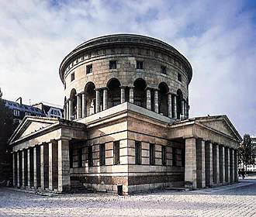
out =
[[[192,188],[238,181],[237,150],[210,141],[185,140],[185,183]]]

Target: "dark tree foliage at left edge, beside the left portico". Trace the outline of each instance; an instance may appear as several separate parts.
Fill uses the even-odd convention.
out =
[[[12,112],[5,107],[0,98],[0,163],[9,161],[9,154],[6,153],[9,137],[16,129],[17,124],[13,122]]]

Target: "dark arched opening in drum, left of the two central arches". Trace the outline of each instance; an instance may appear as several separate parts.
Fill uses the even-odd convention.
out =
[[[109,80],[107,87],[108,91],[108,108],[119,105],[121,103],[121,90],[120,90],[120,82],[116,78],[112,78]]]

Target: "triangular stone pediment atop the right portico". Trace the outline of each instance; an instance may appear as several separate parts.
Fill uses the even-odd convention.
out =
[[[207,116],[195,119],[197,122],[200,122],[201,124],[211,129],[214,129],[227,136],[233,137],[235,140],[241,140],[240,134],[237,132],[230,120],[227,118],[227,115]]]

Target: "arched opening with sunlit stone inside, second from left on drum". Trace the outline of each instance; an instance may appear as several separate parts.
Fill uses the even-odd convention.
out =
[[[86,95],[86,116],[93,115],[96,113],[96,91],[95,84],[88,82],[85,85]]]

